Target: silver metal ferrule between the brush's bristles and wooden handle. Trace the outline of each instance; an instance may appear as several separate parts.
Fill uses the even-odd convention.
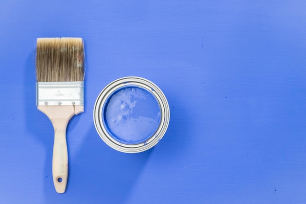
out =
[[[84,106],[84,82],[36,82],[36,105]]]

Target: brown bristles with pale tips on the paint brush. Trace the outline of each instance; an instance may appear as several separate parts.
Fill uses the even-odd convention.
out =
[[[82,38],[38,38],[36,78],[38,82],[84,81]]]

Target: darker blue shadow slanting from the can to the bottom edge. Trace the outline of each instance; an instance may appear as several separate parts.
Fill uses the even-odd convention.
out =
[[[122,204],[130,195],[152,151],[128,154],[113,150],[92,126],[78,156],[70,161],[67,192],[73,192],[80,203]]]

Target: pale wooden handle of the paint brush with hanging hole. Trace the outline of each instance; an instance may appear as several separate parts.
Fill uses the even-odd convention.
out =
[[[84,106],[38,106],[51,120],[54,128],[52,175],[56,192],[64,193],[68,179],[68,151],[66,127],[74,114],[84,111]]]

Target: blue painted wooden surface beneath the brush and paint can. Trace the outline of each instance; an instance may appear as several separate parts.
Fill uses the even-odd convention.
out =
[[[306,204],[306,1],[0,1],[0,204]],[[65,194],[53,128],[35,106],[39,37],[82,37],[85,112],[67,128]],[[168,98],[151,150],[125,154],[93,125],[109,82]]]

